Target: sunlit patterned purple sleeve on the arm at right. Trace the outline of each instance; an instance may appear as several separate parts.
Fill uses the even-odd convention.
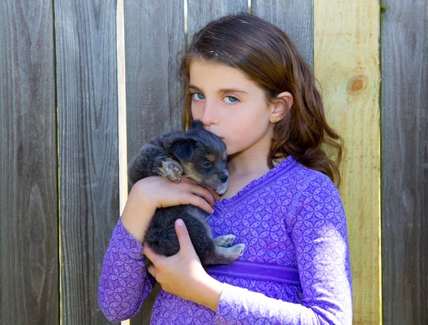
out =
[[[352,324],[345,211],[327,176],[307,181],[290,225],[301,304],[223,284],[215,324]]]

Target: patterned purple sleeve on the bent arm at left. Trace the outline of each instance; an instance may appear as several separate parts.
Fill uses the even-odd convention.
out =
[[[151,293],[155,279],[143,262],[143,246],[118,220],[104,256],[98,305],[111,322],[135,316]]]

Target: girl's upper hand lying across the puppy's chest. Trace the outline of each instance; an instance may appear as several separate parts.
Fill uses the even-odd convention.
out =
[[[162,176],[151,176],[141,179],[134,186],[143,187],[147,201],[156,208],[193,204],[211,214],[215,200],[220,200],[214,189],[205,189],[186,176],[182,177],[180,183]]]

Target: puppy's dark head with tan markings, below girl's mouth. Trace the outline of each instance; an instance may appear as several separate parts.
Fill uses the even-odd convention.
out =
[[[228,189],[226,146],[218,136],[203,129],[202,122],[193,121],[185,136],[173,142],[171,151],[185,176],[218,194]]]

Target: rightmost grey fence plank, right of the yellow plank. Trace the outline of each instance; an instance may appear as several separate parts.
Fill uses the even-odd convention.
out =
[[[428,1],[382,16],[384,324],[428,324]]]

